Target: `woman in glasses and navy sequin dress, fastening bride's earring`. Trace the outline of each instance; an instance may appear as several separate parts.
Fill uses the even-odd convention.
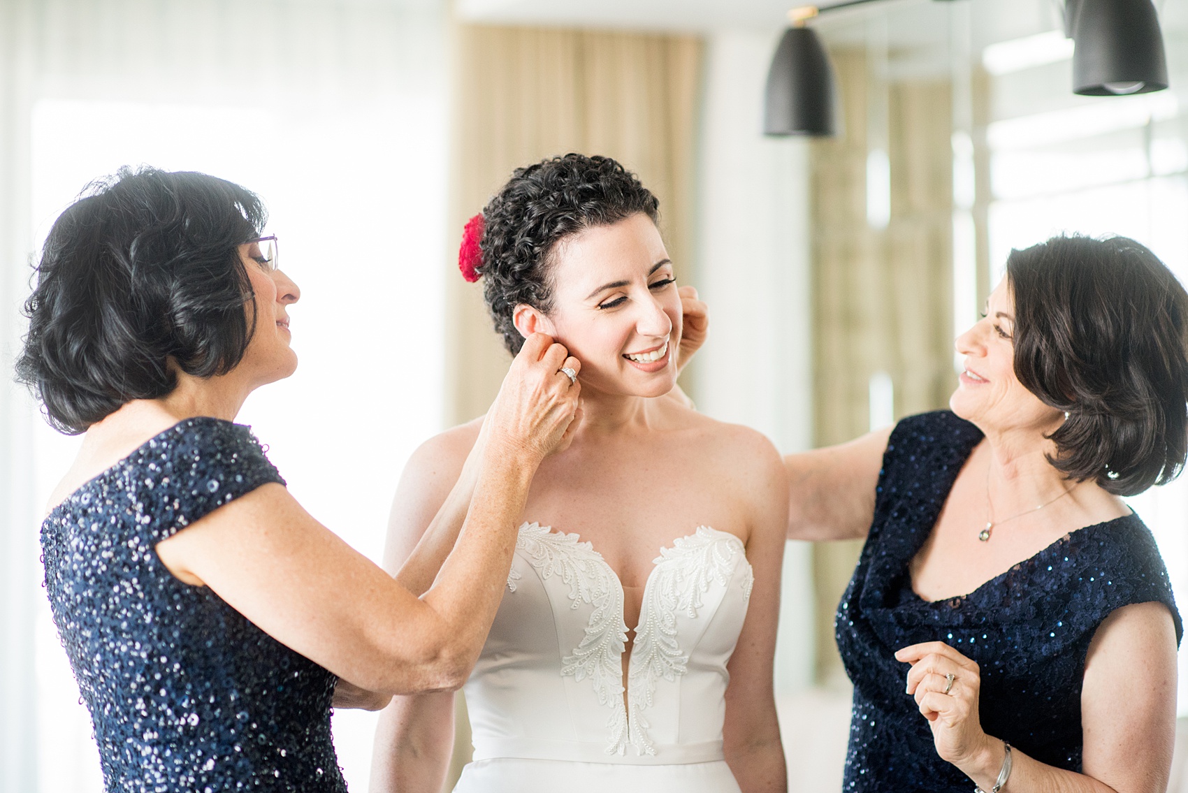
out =
[[[121,171],[57,220],[27,304],[18,376],[56,427],[87,433],[42,545],[109,792],[345,791],[336,685],[340,704],[374,706],[466,680],[533,472],[577,410],[558,372],[577,362],[532,337],[430,528],[432,559],[406,566],[441,567],[415,597],[405,571],[307,514],[232,423],[296,367],[299,292],[263,222],[228,182]]]

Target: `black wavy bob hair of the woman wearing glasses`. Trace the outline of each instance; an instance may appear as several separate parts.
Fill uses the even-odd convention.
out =
[[[50,229],[25,303],[17,380],[49,423],[84,432],[172,392],[177,369],[233,369],[254,332],[239,246],[265,220],[253,192],[204,173],[125,167],[91,183]]]

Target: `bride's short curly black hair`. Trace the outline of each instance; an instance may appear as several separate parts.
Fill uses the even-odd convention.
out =
[[[484,297],[512,355],[524,337],[512,315],[520,303],[552,307],[549,264],[557,243],[595,226],[643,212],[659,222],[659,201],[609,157],[565,154],[516,169],[482,210]]]

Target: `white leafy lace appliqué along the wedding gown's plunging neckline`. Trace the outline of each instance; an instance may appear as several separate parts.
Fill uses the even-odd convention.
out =
[[[640,755],[655,755],[643,712],[652,705],[659,678],[676,680],[685,673],[689,661],[677,639],[677,615],[683,613],[695,618],[710,584],[716,581],[726,586],[740,558],[746,565],[742,597],[744,602],[750,599],[754,575],[742,543],[733,534],[699,526],[694,534],[661,550],[644,588],[627,667],[627,705],[623,698],[627,626],[623,585],[614,570],[577,534],[554,532],[536,522],[520,526],[516,547],[542,578],[561,576],[569,586],[570,608],[576,609],[580,603],[593,607],[581,643],[562,659],[561,674],[576,680],[589,678],[599,703],[612,709],[606,753],[621,755],[630,744]],[[519,577],[511,571],[508,591],[516,591]]]

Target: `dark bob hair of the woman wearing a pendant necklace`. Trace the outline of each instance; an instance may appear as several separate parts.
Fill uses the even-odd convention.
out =
[[[1057,236],[1012,250],[1015,374],[1068,419],[1057,470],[1136,495],[1174,480],[1188,448],[1188,293],[1126,237]]]

